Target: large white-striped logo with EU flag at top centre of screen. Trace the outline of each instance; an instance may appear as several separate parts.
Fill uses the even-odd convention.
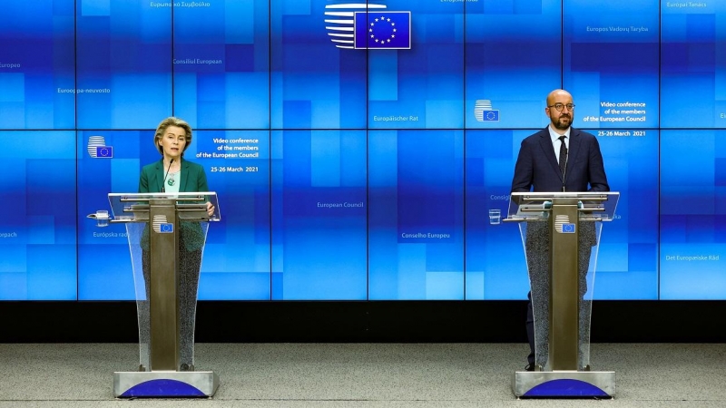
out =
[[[411,12],[384,11],[386,5],[340,3],[325,6],[325,29],[338,48],[408,50]]]

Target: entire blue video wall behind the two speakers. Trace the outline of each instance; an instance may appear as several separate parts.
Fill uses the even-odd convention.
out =
[[[594,298],[726,299],[721,3],[8,3],[0,299],[132,299],[125,228],[87,216],[168,116],[220,199],[201,299],[524,299],[488,211],[558,88],[621,193]]]

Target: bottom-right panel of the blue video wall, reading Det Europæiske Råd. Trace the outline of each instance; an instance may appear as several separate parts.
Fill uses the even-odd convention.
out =
[[[726,290],[726,132],[662,131],[661,297]]]

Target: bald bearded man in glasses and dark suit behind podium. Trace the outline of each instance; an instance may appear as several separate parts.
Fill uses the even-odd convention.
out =
[[[558,89],[547,95],[544,113],[550,124],[546,129],[525,138],[520,146],[512,180],[513,192],[609,191],[600,144],[595,136],[572,128],[574,102],[569,92]],[[549,276],[549,231],[546,223],[527,225],[526,256],[532,286],[546,286]],[[587,264],[595,245],[594,223],[580,228],[580,295],[586,290]],[[533,307],[547,307],[544,296],[535,299],[527,294],[527,337],[530,355],[527,371],[535,370],[535,318]],[[539,335],[539,334],[538,334]],[[543,334],[546,335],[546,334]]]

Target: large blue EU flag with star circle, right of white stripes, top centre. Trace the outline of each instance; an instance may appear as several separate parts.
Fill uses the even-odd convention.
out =
[[[411,12],[356,12],[354,21],[355,48],[411,48]]]

